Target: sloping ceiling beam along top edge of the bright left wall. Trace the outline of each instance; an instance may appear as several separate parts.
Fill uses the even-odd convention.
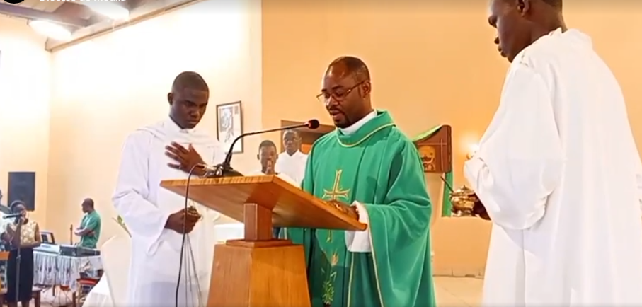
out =
[[[130,11],[130,18],[127,21],[103,21],[94,25],[89,25],[86,28],[76,30],[71,35],[71,40],[67,42],[59,42],[56,40],[47,40],[45,42],[45,49],[50,52],[61,50],[72,45],[79,44],[86,40],[91,40],[107,33],[112,33],[115,30],[125,28],[135,23],[147,21],[148,19],[161,16],[170,11],[178,8],[183,8],[190,4],[204,0],[154,0],[149,1],[142,6],[138,6]]]

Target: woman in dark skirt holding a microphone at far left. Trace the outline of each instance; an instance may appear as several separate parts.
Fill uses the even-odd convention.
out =
[[[28,307],[33,290],[33,248],[40,245],[40,228],[38,223],[27,218],[24,202],[16,200],[10,208],[11,212],[20,216],[5,224],[4,232],[0,235],[9,246],[5,302],[8,307],[17,307],[18,301],[22,307]]]

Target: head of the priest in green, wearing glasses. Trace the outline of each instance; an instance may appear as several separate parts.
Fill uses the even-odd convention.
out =
[[[323,74],[319,99],[336,127],[345,128],[372,112],[370,72],[357,57],[338,57]]]

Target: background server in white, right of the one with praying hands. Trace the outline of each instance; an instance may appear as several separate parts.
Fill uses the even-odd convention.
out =
[[[295,183],[301,185],[305,175],[305,166],[308,162],[308,155],[301,152],[301,137],[296,130],[287,130],[283,133],[283,146],[285,151],[279,154],[275,170],[292,178]]]

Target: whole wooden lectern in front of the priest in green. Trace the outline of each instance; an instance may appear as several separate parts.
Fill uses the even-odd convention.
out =
[[[161,187],[185,196],[187,180]],[[189,198],[245,223],[245,238],[214,247],[207,307],[309,307],[302,245],[272,227],[365,230],[366,225],[275,175],[190,180]]]

